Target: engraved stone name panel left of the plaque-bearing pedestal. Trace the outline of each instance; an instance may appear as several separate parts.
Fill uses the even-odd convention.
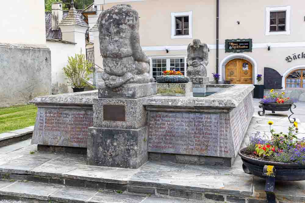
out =
[[[92,109],[38,107],[32,144],[87,148]]]

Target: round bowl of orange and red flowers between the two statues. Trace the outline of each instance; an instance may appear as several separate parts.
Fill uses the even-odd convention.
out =
[[[157,83],[187,83],[190,79],[180,71],[163,71],[163,75],[156,78]]]

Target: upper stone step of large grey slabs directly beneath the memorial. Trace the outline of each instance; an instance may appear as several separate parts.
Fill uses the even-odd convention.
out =
[[[231,168],[151,161],[129,169],[86,165],[86,161],[86,156],[77,154],[38,153],[37,145],[23,141],[0,148],[0,178],[199,202],[261,203],[266,199],[265,180],[244,173],[240,157]],[[303,191],[305,181],[276,183],[280,202],[305,202]]]

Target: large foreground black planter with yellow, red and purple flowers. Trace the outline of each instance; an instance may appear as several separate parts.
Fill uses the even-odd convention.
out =
[[[267,202],[275,203],[275,180],[305,180],[305,139],[298,139],[298,123],[288,128],[288,133],[276,133],[270,125],[271,139],[260,132],[250,136],[249,143],[239,150],[242,168],[246,173],[266,178]]]

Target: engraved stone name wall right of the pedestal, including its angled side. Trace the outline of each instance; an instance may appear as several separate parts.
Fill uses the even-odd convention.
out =
[[[235,157],[253,113],[251,93],[229,113],[150,111],[148,151]]]

